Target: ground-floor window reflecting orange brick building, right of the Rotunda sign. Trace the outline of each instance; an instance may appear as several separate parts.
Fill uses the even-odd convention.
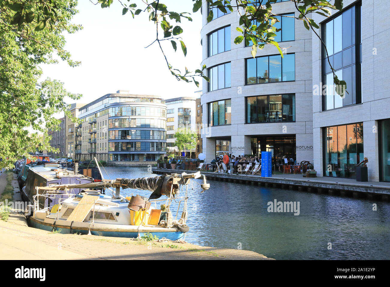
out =
[[[326,176],[356,178],[356,164],[364,159],[363,123],[324,128]]]

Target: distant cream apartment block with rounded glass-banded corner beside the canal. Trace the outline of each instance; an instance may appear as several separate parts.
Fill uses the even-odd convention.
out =
[[[167,106],[160,97],[119,90],[80,108],[79,117],[81,160],[139,165],[165,154]]]

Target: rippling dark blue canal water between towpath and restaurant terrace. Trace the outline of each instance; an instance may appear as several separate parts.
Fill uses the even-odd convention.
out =
[[[105,167],[103,176],[156,176],[149,171],[147,167]],[[208,182],[211,187],[204,193],[197,184],[189,188],[190,231],[185,238],[189,243],[242,248],[275,259],[390,259],[389,202]],[[123,195],[132,193],[151,194],[121,190]],[[268,212],[268,202],[275,199],[299,202],[300,214]]]

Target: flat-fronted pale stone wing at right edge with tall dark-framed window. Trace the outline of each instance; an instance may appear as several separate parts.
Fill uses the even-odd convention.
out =
[[[367,157],[369,180],[390,181],[389,11],[380,1],[343,4],[330,18],[313,15],[328,52],[313,33],[314,167],[317,175],[355,179]],[[346,81],[344,97],[330,64]]]

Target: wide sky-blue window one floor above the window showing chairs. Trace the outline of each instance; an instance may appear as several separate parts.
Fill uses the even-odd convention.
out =
[[[295,54],[246,59],[246,85],[295,81]]]

